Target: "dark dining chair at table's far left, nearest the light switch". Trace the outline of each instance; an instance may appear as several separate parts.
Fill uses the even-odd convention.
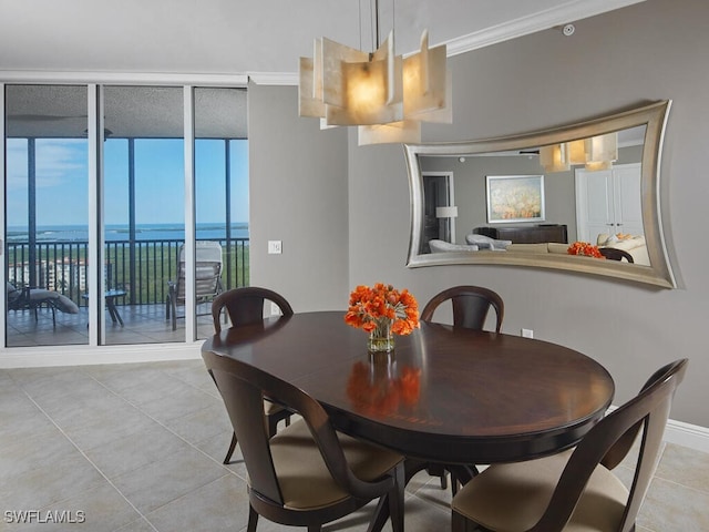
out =
[[[292,307],[286,298],[268,288],[245,286],[219,294],[212,303],[212,319],[215,334],[222,332],[220,318],[223,310],[226,310],[226,315],[234,327],[253,325],[264,319],[264,305],[266,301],[275,303],[281,315],[292,316]],[[264,401],[264,410],[266,411],[268,433],[270,436],[276,433],[280,421],[285,420],[286,426],[290,423],[290,412],[281,406]],[[232,461],[232,454],[236,450],[237,442],[236,432],[234,432],[223,463],[227,464]]]

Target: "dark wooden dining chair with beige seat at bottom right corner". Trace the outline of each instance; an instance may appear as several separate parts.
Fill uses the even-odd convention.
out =
[[[680,359],[656,371],[637,397],[592,428],[575,449],[490,466],[453,498],[452,531],[630,532],[657,466]],[[610,470],[643,428],[630,490]]]

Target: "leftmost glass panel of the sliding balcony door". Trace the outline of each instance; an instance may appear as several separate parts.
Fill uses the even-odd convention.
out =
[[[6,344],[86,344],[86,88],[8,85],[4,102]]]

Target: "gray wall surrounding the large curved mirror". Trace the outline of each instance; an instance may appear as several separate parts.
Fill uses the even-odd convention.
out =
[[[616,379],[615,403],[630,398],[655,368],[689,357],[672,418],[709,427],[707,20],[706,0],[648,0],[579,21],[572,38],[548,30],[452,58],[454,124],[424,127],[429,141],[483,139],[672,99],[661,174],[678,289],[518,267],[408,269],[401,146],[357,147],[352,135],[350,285],[381,279],[409,287],[420,301],[455,284],[493,288],[505,300],[504,332],[531,328],[536,338],[599,360]]]

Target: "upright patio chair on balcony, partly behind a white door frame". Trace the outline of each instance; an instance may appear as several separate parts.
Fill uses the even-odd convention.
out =
[[[197,305],[208,303],[223,291],[222,286],[222,246],[216,242],[195,243],[195,296]],[[172,319],[173,330],[177,328],[177,306],[185,305],[185,246],[179,246],[177,278],[167,282],[165,319]],[[205,313],[204,315],[208,315]],[[201,315],[198,315],[201,316]]]

